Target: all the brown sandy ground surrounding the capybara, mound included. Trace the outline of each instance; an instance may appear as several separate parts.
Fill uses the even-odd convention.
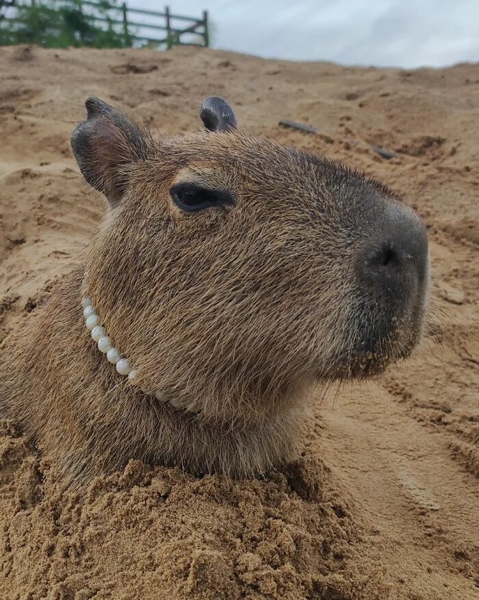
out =
[[[90,94],[164,133],[224,95],[250,131],[383,179],[428,227],[434,321],[402,366],[318,394],[298,462],[253,481],[131,462],[62,491],[3,421],[0,598],[477,599],[479,65],[18,47],[0,81],[0,353],[103,212],[68,142]]]

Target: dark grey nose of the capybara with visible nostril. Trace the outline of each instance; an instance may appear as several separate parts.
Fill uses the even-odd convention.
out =
[[[424,290],[428,273],[426,227],[409,206],[388,204],[359,252],[359,275],[383,292]]]

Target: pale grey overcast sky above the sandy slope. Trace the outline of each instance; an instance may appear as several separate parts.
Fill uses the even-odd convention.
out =
[[[157,0],[131,8],[163,10]],[[168,0],[166,1],[168,3]],[[170,0],[208,10],[211,46],[291,60],[444,66],[479,61],[479,0]]]

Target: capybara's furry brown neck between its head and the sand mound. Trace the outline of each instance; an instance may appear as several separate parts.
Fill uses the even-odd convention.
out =
[[[11,354],[22,367],[2,379],[9,402],[0,410],[40,440],[65,484],[88,481],[131,458],[248,477],[275,466],[278,453],[294,455],[304,405],[247,421],[207,419],[117,373],[86,328],[82,282],[83,268],[62,282],[27,345]]]

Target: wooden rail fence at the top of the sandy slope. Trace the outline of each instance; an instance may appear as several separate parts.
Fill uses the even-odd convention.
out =
[[[0,0],[0,25],[9,27],[10,23],[12,25],[21,23],[23,19],[18,16],[19,10],[33,11],[38,10],[41,6],[47,10],[66,10],[72,6],[72,3],[68,0],[50,0],[42,5],[36,0],[30,0],[30,3],[18,0]],[[164,12],[156,12],[129,8],[126,2],[114,5],[107,1],[94,0],[77,0],[75,10],[80,10],[85,18],[94,23],[107,25],[107,27],[119,26],[120,32],[125,38],[125,46],[140,47],[146,44],[158,49],[170,49],[177,45],[209,46],[206,10],[203,10],[201,18],[194,18],[172,14],[168,6],[165,7]],[[148,21],[142,21],[142,16],[148,17]],[[153,32],[148,34],[146,29],[153,30]],[[155,35],[155,32],[158,34]]]

